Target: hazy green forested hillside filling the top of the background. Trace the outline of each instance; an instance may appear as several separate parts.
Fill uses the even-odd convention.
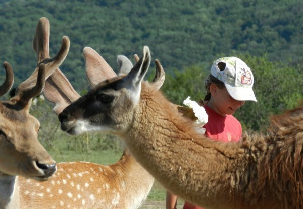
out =
[[[32,39],[39,18],[51,22],[51,55],[63,35],[71,47],[61,69],[77,90],[87,88],[82,49],[90,46],[116,68],[116,56],[132,59],[148,45],[167,73],[192,65],[209,69],[219,56],[267,54],[297,63],[303,41],[303,2],[293,1],[0,1],[1,61],[9,61],[15,85],[36,65]],[[3,73],[1,74],[3,75]]]

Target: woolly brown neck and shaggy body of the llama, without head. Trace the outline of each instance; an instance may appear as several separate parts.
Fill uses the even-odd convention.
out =
[[[273,119],[267,135],[210,140],[142,83],[124,140],[135,158],[173,193],[207,208],[302,208],[302,107]],[[131,137],[129,137],[131,136]]]

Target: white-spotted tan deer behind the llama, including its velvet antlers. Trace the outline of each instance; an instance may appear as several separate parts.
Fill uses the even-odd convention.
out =
[[[37,52],[37,62],[49,57],[49,21],[39,20],[33,45]],[[110,65],[90,47],[83,49],[85,73],[89,84],[94,87],[103,80],[116,77]],[[135,55],[135,60],[138,56]],[[120,75],[127,74],[132,63],[125,56],[117,57]],[[159,60],[156,63],[156,75],[153,85],[160,88],[165,73]],[[68,86],[65,86],[68,84]],[[60,89],[70,88],[67,97],[61,97]],[[68,79],[57,68],[46,80],[43,89],[45,98],[56,104],[53,111],[62,110],[77,100],[80,95],[71,86]],[[57,101],[63,101],[60,105]],[[20,193],[23,202],[31,202],[30,208],[125,208],[134,209],[146,199],[154,178],[124,150],[120,160],[112,165],[91,162],[57,163],[57,172],[49,181],[35,183],[30,179],[20,178]]]

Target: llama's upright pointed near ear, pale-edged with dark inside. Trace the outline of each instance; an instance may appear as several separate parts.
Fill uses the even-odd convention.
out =
[[[136,65],[131,69],[125,80],[127,82],[132,82],[132,86],[137,88],[140,86],[144,76],[147,73],[150,64],[150,52],[148,46],[143,47],[143,56],[136,63]]]

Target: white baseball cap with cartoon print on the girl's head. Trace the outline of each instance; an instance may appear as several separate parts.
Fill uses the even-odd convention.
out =
[[[239,101],[255,101],[254,76],[250,68],[237,57],[223,57],[214,61],[211,75],[225,84],[232,98]]]

